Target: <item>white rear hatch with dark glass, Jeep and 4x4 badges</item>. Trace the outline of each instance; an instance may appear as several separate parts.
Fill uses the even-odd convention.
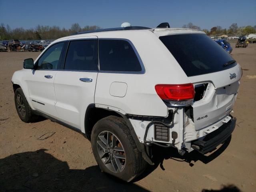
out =
[[[239,64],[205,34],[159,38],[194,84],[192,107],[196,130],[227,116],[234,106],[242,76]]]

